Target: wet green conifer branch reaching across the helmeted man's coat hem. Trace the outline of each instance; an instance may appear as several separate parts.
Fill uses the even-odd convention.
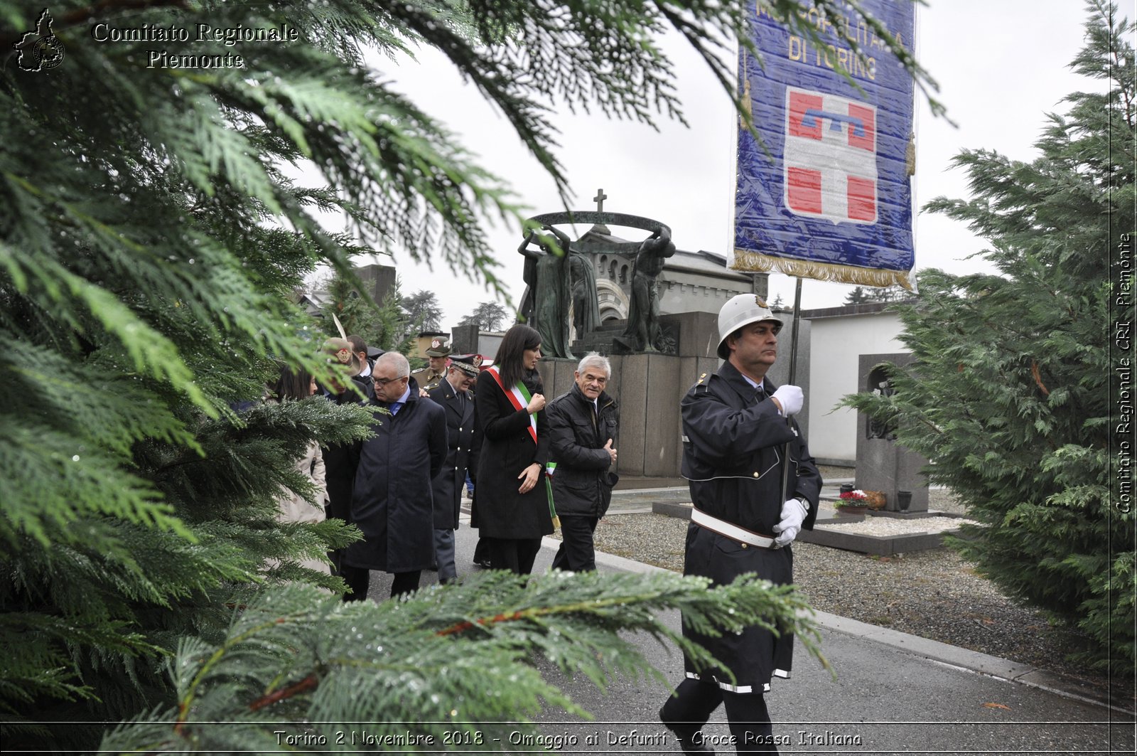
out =
[[[534,577],[531,585],[526,585],[521,576],[488,574],[471,576],[465,585],[422,591],[408,600],[381,605],[343,605],[334,597],[321,597],[313,589],[299,585],[273,589],[238,613],[226,638],[213,651],[200,641],[183,642],[177,658],[171,664],[171,668],[177,671],[179,680],[183,681],[179,683],[173,734],[182,739],[204,737],[205,733],[191,732],[191,721],[222,716],[217,707],[229,707],[226,701],[232,701],[229,696],[223,700],[215,696],[201,698],[197,696],[198,690],[206,687],[218,690],[227,685],[240,700],[242,691],[257,690],[257,680],[269,669],[275,671],[274,679],[282,679],[291,672],[287,676],[296,682],[257,692],[251,702],[241,708],[249,714],[272,709],[272,720],[242,720],[239,712],[225,712],[225,718],[236,717],[234,724],[244,723],[254,728],[271,728],[282,716],[323,720],[326,715],[322,707],[330,699],[339,700],[341,692],[350,689],[358,710],[347,712],[345,716],[374,717],[370,706],[379,698],[387,707],[387,721],[409,722],[406,716],[417,716],[423,722],[415,728],[429,732],[435,726],[429,721],[441,722],[439,726],[445,728],[445,723],[454,716],[441,712],[435,714],[433,708],[438,704],[424,705],[413,692],[417,683],[410,688],[401,687],[398,692],[401,701],[395,705],[388,690],[390,683],[384,681],[407,675],[416,681],[434,681],[435,685],[447,690],[442,696],[445,700],[466,700],[462,716],[464,722],[499,717],[499,712],[506,710],[517,716],[533,705],[537,699],[531,697],[538,693],[554,705],[583,715],[586,713],[572,705],[555,687],[541,681],[534,669],[526,668],[525,659],[530,655],[549,655],[555,648],[559,649],[556,655],[564,656],[556,659],[558,666],[566,671],[581,671],[601,683],[601,665],[605,663],[600,659],[609,659],[623,672],[641,668],[644,659],[628,641],[619,641],[619,654],[609,652],[603,657],[598,656],[600,647],[617,640],[617,633],[628,630],[645,630],[657,636],[673,635],[656,616],[658,610],[671,607],[681,608],[684,616],[690,616],[700,625],[711,621],[724,623],[725,628],[736,628],[761,621],[797,628],[798,632],[815,632],[810,630],[812,625],[807,621],[795,617],[795,602],[787,589],[774,591],[769,583],[752,577],[712,591],[706,591],[705,586],[704,580],[672,574],[554,573]],[[495,592],[487,592],[489,587],[493,587]],[[501,589],[506,589],[504,593]],[[545,598],[561,593],[575,598],[545,603]],[[441,601],[441,606],[429,607],[423,600],[426,598]],[[526,602],[533,602],[532,607],[508,608],[509,605]],[[447,633],[446,630],[454,627],[454,623],[439,623],[437,619],[423,622],[424,617],[445,617],[447,607],[457,609],[471,603],[475,607],[498,607],[498,611],[484,614],[488,618],[484,628],[492,632],[474,635]],[[757,607],[764,609],[757,610]],[[517,613],[524,616],[515,619]],[[495,622],[497,618],[501,621]],[[441,624],[446,626],[432,626]],[[345,644],[339,640],[348,627],[359,636],[358,643]],[[581,632],[575,632],[576,628]],[[542,640],[550,634],[571,638],[572,642],[550,646]],[[325,649],[339,652],[330,655],[324,652]],[[690,650],[705,664],[714,664],[705,651],[700,654],[697,647]],[[815,647],[811,647],[811,652],[816,652]],[[448,666],[450,672],[438,674],[439,665]],[[475,669],[475,674],[466,674],[466,671],[473,673]],[[467,688],[474,685],[481,689],[488,684],[488,674],[509,675],[513,690],[506,700],[479,702],[470,699]],[[375,685],[387,692],[379,695]],[[439,689],[440,692],[442,689]],[[503,692],[506,691],[503,689]],[[435,695],[434,700],[438,699]],[[507,708],[499,709],[499,706]],[[103,747],[126,749],[133,747],[132,742],[140,745],[142,741],[134,741],[132,732],[143,738],[149,737],[150,730],[141,723],[125,725],[108,737]],[[226,738],[236,736],[210,732],[208,737],[213,747],[224,748]],[[149,747],[159,749],[152,742]]]

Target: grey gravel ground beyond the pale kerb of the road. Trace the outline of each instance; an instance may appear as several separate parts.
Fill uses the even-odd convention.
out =
[[[947,492],[931,495],[932,509],[962,513]],[[597,526],[596,549],[682,572],[686,532],[684,519],[615,515]],[[1105,684],[1065,660],[1080,634],[1052,627],[947,548],[870,557],[799,542],[794,562],[798,586],[818,610]]]

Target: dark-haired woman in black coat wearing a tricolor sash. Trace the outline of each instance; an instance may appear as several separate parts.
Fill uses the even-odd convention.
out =
[[[540,359],[540,334],[514,326],[475,392],[484,437],[471,525],[489,543],[490,567],[518,575],[532,572],[555,517],[545,478],[549,441]]]

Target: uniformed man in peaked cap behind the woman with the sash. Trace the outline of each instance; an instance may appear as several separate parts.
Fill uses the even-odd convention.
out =
[[[454,554],[454,532],[458,528],[462,486],[466,470],[476,475],[481,428],[474,412],[470,387],[478,380],[476,354],[450,358],[446,378],[428,395],[446,409],[447,452],[442,470],[434,476],[434,556],[438,558],[438,581],[449,583],[458,576]]]

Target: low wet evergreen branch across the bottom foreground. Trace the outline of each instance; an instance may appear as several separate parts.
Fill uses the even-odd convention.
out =
[[[815,627],[797,616],[805,609],[800,595],[753,576],[707,590],[702,578],[672,573],[547,573],[526,584],[484,572],[408,601],[347,605],[292,585],[251,602],[224,638],[183,641],[167,663],[176,700],[108,733],[101,748],[272,750],[282,722],[297,723],[284,728],[291,736],[323,736],[327,743],[358,729],[350,723],[367,722],[375,736],[410,732],[435,743],[474,725],[483,740],[462,750],[498,749],[511,730],[537,732],[532,717],[548,706],[590,716],[541,676],[536,659],[601,690],[614,675],[658,679],[634,638],[621,632],[629,631],[717,666],[672,632],[661,609],[728,632],[741,627],[741,617],[778,618],[818,652]],[[215,724],[221,720],[225,726]]]

